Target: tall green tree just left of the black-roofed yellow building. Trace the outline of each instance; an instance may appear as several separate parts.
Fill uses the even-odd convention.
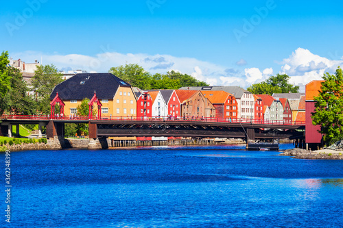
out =
[[[37,66],[34,71],[35,75],[32,78],[32,86],[37,92],[38,110],[42,114],[50,113],[50,94],[57,84],[60,84],[62,74],[58,73],[54,65]]]

